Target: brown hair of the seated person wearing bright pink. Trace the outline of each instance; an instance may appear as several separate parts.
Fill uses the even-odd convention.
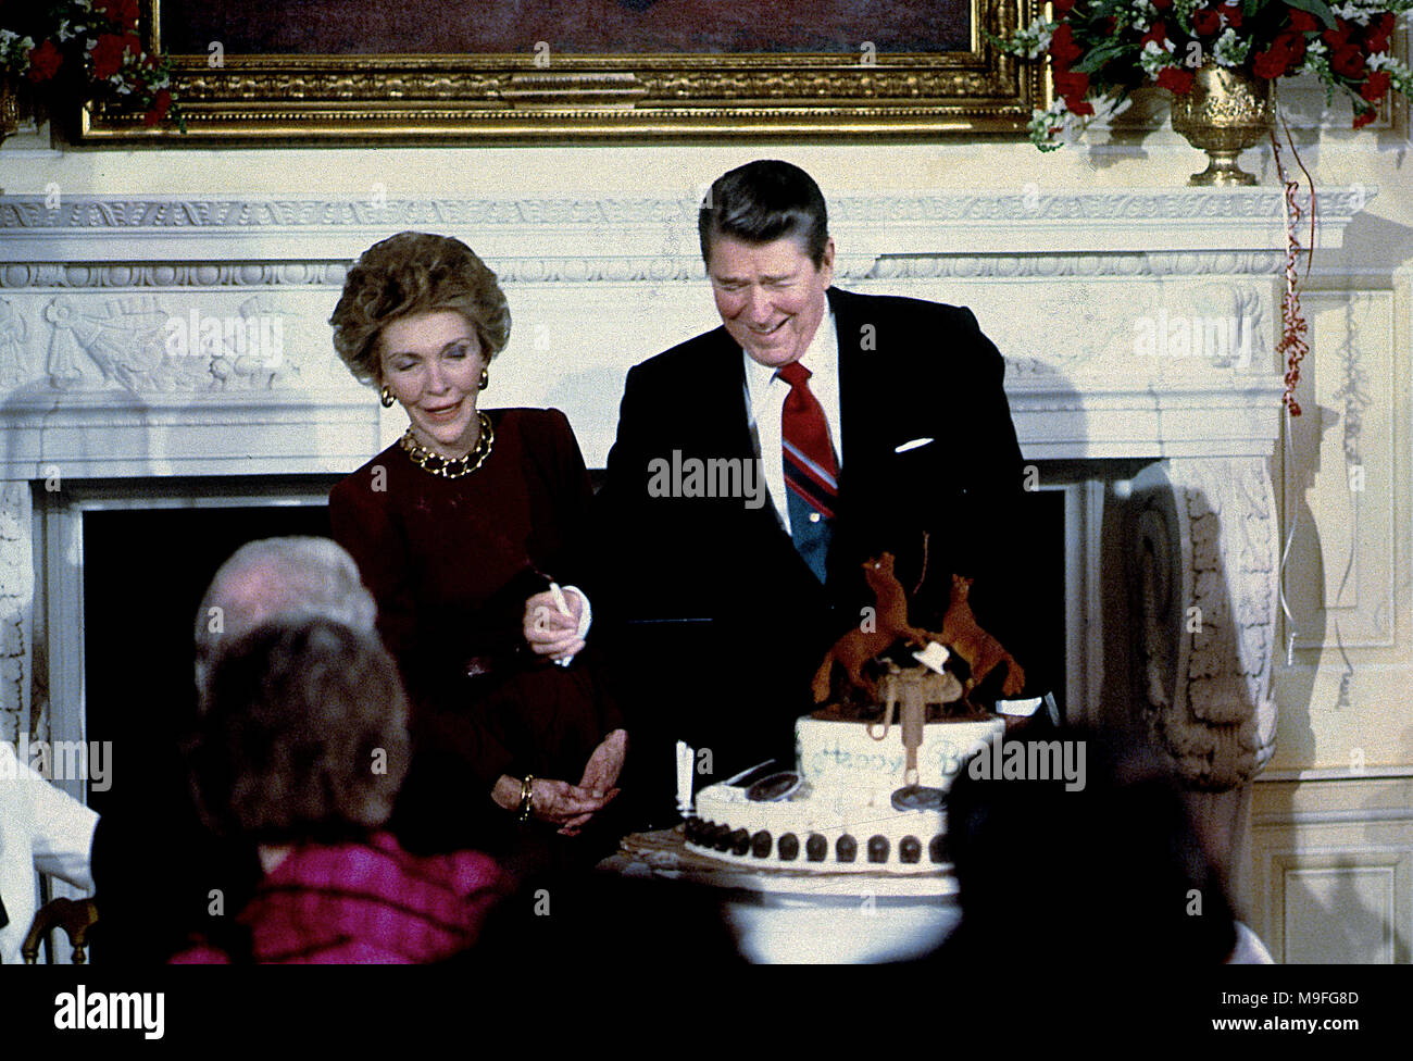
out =
[[[260,626],[222,651],[189,747],[218,834],[332,842],[383,825],[407,773],[407,698],[376,636],[328,619]]]

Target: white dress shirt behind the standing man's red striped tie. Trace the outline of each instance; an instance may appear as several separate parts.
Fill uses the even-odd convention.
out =
[[[756,454],[760,456],[760,468],[780,526],[793,535],[790,502],[786,499],[786,458],[780,425],[790,384],[776,374],[776,369],[762,364],[745,350],[740,356],[746,359],[746,413],[750,417]],[[824,408],[834,456],[839,468],[844,468],[844,437],[839,429],[839,333],[832,309],[820,319],[820,326],[814,331],[814,338],[800,363],[811,373],[810,393]]]

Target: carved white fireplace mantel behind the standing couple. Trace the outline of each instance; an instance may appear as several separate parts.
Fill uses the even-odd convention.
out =
[[[1368,198],[1368,188],[1320,192],[1323,247],[1340,244]],[[1224,736],[1222,747],[1246,749],[1239,771],[1249,774],[1269,756],[1273,733],[1256,709],[1269,698],[1276,612],[1266,461],[1280,417],[1272,353],[1280,192],[901,192],[829,205],[841,287],[975,311],[1007,357],[1029,459],[1043,468],[1119,462],[1087,465],[1101,483],[1161,462],[1136,483],[1130,528],[1135,555],[1161,551],[1167,565],[1143,598],[1152,615],[1139,640],[1152,644],[1133,648],[1147,668],[1149,711],[1166,721],[1163,733],[1181,730],[1173,740],[1193,745],[1174,750],[1180,760],[1210,759],[1202,740],[1221,743],[1214,726],[1245,735]],[[487,400],[565,410],[591,466],[602,466],[612,444],[627,367],[716,322],[695,203],[685,199],[93,196],[49,209],[42,198],[0,196],[0,737],[31,725],[31,689],[48,688],[32,663],[44,657],[34,651],[32,490],[54,476],[160,480],[357,466],[401,425],[333,357],[326,321],[346,264],[403,229],[459,236],[496,270],[514,326],[492,366]],[[174,355],[168,322],[192,314],[278,319],[277,363],[235,350]],[[1178,318],[1239,321],[1249,359],[1136,350],[1143,319]],[[1091,507],[1094,538],[1102,513]],[[1208,518],[1214,509],[1221,518]],[[1099,571],[1091,544],[1091,633],[1075,643],[1088,646],[1089,694],[1102,650],[1098,583],[1122,582]],[[1226,609],[1215,603],[1212,571]],[[1171,626],[1202,605],[1211,622],[1231,617],[1222,637]],[[1161,632],[1171,637],[1159,644]],[[1186,729],[1174,712],[1186,712]],[[81,705],[55,704],[57,729],[81,718]]]

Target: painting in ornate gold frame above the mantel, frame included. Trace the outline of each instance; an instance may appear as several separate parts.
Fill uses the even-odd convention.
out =
[[[555,143],[1023,130],[1039,0],[143,0],[185,141]],[[85,140],[172,141],[85,106]]]

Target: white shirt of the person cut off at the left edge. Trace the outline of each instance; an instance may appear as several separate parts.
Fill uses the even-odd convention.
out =
[[[20,945],[40,903],[35,870],[93,890],[90,855],[97,815],[21,763],[0,740],[0,962],[20,962]]]

